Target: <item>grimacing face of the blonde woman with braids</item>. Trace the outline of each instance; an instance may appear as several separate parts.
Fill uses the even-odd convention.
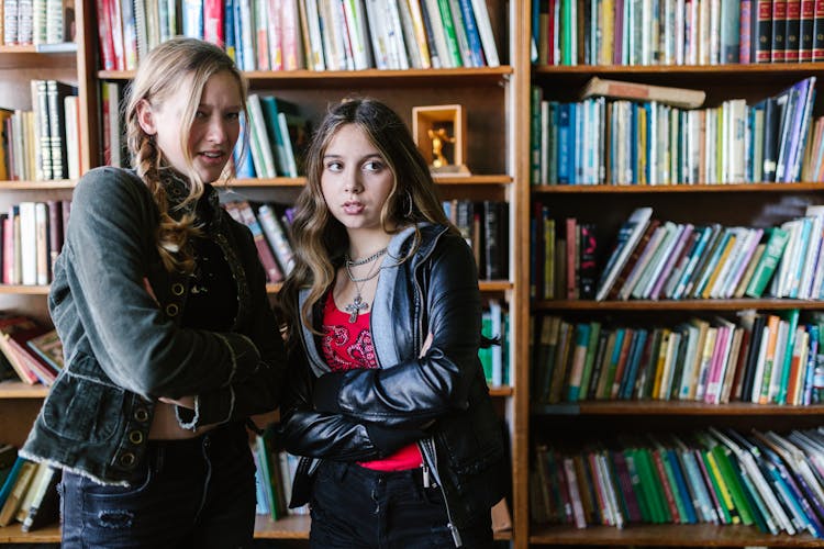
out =
[[[141,117],[143,130],[154,133],[166,161],[183,175],[188,173],[188,167],[181,148],[180,120],[190,96],[188,86],[179,86],[163,102],[148,107],[147,124],[144,124],[145,117]],[[241,88],[231,72],[209,77],[186,139],[194,170],[203,182],[218,180],[232,157],[241,133],[242,109]]]

